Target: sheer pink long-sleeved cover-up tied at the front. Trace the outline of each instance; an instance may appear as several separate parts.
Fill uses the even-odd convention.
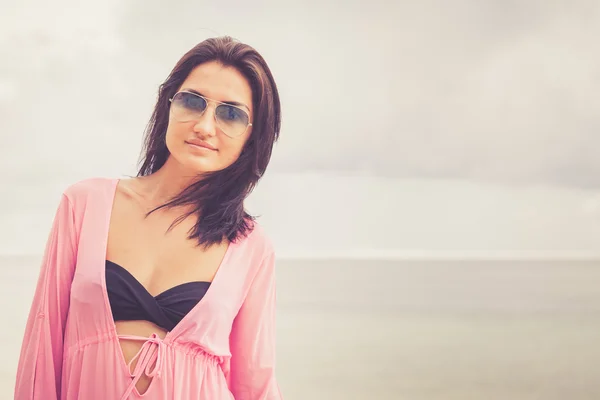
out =
[[[23,338],[16,400],[280,400],[275,377],[275,254],[257,223],[229,245],[200,302],[130,370],[108,301],[105,258],[118,180],[61,196]],[[152,377],[140,394],[136,382]]]

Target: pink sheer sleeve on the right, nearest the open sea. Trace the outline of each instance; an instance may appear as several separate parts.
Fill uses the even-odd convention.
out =
[[[235,400],[282,399],[275,378],[275,255],[262,262],[233,321],[230,388]]]

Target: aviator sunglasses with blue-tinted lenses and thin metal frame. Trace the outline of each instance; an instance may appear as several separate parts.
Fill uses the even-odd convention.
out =
[[[250,116],[241,107],[212,100],[199,94],[181,91],[169,99],[171,114],[178,122],[197,121],[202,117],[208,104],[213,102],[215,107],[215,121],[220,130],[231,138],[241,136],[249,126]]]

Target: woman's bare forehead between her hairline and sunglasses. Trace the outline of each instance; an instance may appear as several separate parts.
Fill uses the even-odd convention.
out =
[[[194,68],[180,89],[194,89],[213,100],[242,103],[252,112],[252,89],[248,80],[237,69],[215,61]]]

